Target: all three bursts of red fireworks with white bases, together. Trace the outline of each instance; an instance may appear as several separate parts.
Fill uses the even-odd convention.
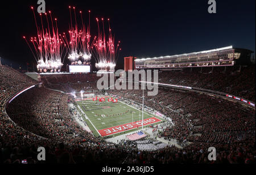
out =
[[[114,71],[120,41],[115,43],[110,22],[108,19],[108,32],[105,31],[104,19],[101,24],[96,18],[98,27],[98,36],[90,35],[90,10],[89,23],[85,25],[80,14],[80,23],[77,23],[77,11],[75,7],[69,6],[70,23],[67,33],[59,33],[57,19],[53,20],[51,11],[45,14],[39,14],[40,25],[36,20],[34,8],[31,7],[35,19],[38,35],[26,40],[36,61],[40,72],[51,71],[59,72],[65,56],[71,62],[71,65],[90,65],[90,61],[95,58],[96,68],[99,71]],[[64,54],[65,53],[65,54]]]

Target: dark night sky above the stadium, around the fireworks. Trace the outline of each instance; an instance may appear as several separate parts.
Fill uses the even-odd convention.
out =
[[[59,32],[67,32],[68,6],[91,10],[92,36],[97,33],[96,17],[110,18],[123,57],[159,57],[233,45],[255,52],[255,0],[216,0],[217,13],[208,13],[208,1],[46,1],[46,10],[58,19]],[[7,1],[0,5],[0,57],[13,67],[35,64],[23,36],[36,36],[30,9],[34,1]],[[67,58],[65,58],[67,59]]]

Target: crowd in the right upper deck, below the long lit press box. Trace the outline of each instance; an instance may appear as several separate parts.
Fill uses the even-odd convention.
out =
[[[210,89],[255,101],[255,65],[162,71],[159,83]]]

